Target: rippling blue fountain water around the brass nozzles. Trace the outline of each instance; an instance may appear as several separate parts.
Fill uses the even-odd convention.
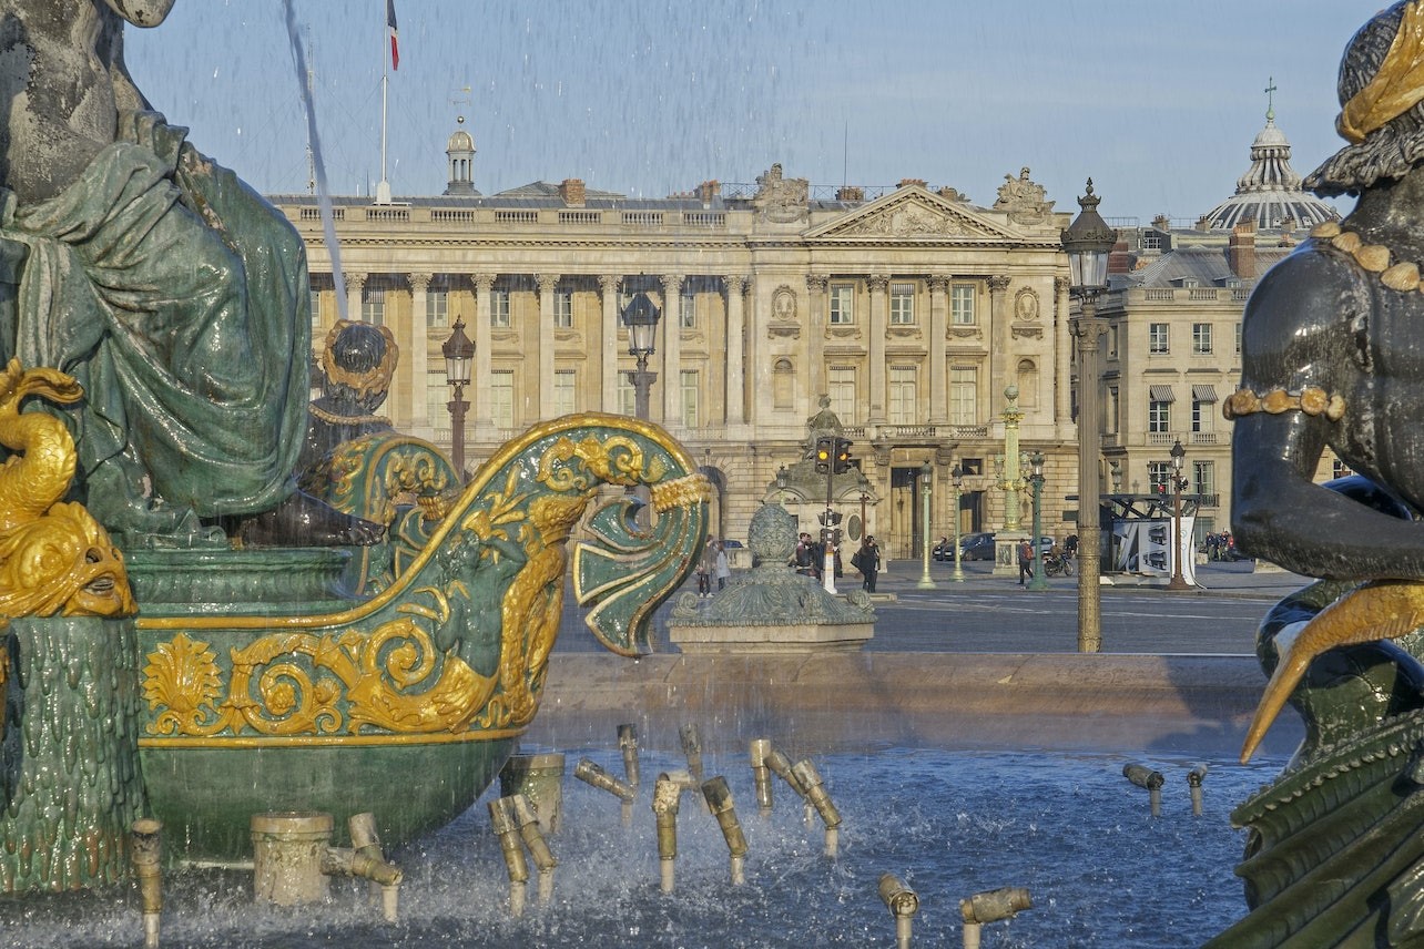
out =
[[[775,737],[773,737],[775,743]],[[792,760],[802,757],[785,748]],[[1267,783],[1282,760],[1210,765],[1202,817],[1186,775],[1202,758],[1062,753],[948,753],[883,748],[813,756],[836,807],[839,858],[823,855],[819,820],[776,781],[776,807],[756,810],[746,754],[709,754],[726,777],[745,829],[746,884],[732,886],[728,851],[701,798],[678,817],[676,891],[659,892],[652,781],[685,767],[642,751],[632,825],[615,797],[572,778],[587,756],[622,774],[617,747],[565,750],[564,824],[550,844],[560,866],[538,905],[533,881],[521,918],[484,800],[456,822],[392,855],[406,872],[400,921],[380,921],[366,884],[333,881],[320,906],[255,906],[251,874],[185,871],[165,879],[162,945],[296,949],[367,946],[893,946],[894,922],[877,882],[893,872],[920,896],[914,946],[961,945],[958,902],[1025,886],[1034,908],[983,931],[983,946],[1195,946],[1245,913],[1233,876],[1243,837],[1227,814]],[[1141,761],[1166,778],[1162,817],[1122,777]],[[346,815],[336,815],[345,821]],[[0,946],[141,945],[132,888],[0,901]]]

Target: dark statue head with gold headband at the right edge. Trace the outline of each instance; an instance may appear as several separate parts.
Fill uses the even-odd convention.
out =
[[[1377,13],[1340,60],[1336,129],[1350,144],[1310,172],[1317,195],[1360,193],[1424,161],[1424,1]]]

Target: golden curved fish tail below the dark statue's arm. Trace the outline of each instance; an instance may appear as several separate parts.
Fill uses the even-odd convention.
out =
[[[1250,761],[1310,663],[1337,646],[1400,639],[1424,625],[1424,582],[1380,580],[1346,593],[1306,623],[1294,639],[1277,639],[1280,659],[1246,730],[1242,764]]]

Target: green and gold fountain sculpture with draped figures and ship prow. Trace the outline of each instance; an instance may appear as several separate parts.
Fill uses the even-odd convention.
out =
[[[124,876],[140,817],[225,862],[259,812],[450,821],[538,710],[575,526],[574,596],[629,656],[705,538],[706,479],[619,415],[463,485],[366,418],[379,330],[333,330],[309,413],[300,239],[124,68],[171,6],[0,0],[0,892]]]

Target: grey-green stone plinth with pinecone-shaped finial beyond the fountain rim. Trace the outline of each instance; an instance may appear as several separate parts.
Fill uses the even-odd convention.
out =
[[[684,593],[674,606],[668,639],[684,653],[850,652],[874,636],[864,590],[834,596],[787,566],[796,519],[782,505],[763,504],[752,516],[748,545],[750,571],[711,599]]]

